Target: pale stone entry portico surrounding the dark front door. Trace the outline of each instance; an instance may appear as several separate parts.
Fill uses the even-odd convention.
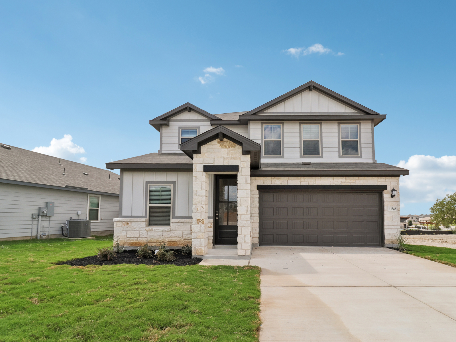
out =
[[[207,219],[208,206],[212,204],[209,204],[209,177],[203,171],[204,165],[239,165],[238,255],[250,255],[250,155],[243,155],[242,147],[227,139],[213,140],[201,146],[201,154],[193,155],[192,254],[204,255],[212,247],[212,223]]]

